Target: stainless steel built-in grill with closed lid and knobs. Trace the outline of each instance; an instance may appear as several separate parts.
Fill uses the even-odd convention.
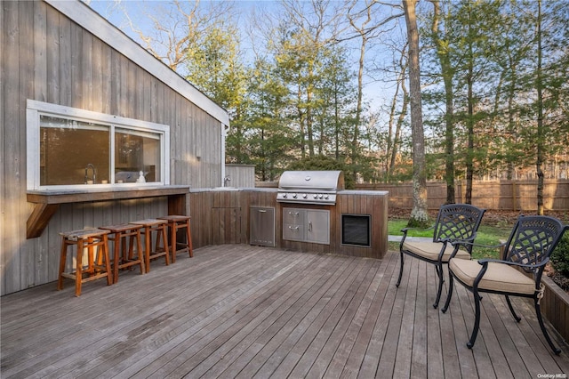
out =
[[[341,171],[285,171],[278,181],[276,201],[297,204],[336,204],[344,189]]]

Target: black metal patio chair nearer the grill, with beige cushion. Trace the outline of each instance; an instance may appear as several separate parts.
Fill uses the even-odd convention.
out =
[[[401,264],[399,266],[399,278],[396,286],[401,284],[403,276],[404,255],[410,255],[421,261],[435,265],[437,272],[438,287],[437,299],[433,303],[433,307],[437,308],[438,302],[443,291],[443,264],[448,263],[451,254],[455,251],[454,256],[457,258],[470,260],[472,254],[471,245],[461,245],[460,241],[474,242],[477,236],[477,230],[482,221],[485,209],[477,208],[469,204],[449,204],[441,206],[435,224],[427,230],[433,230],[432,241],[419,241],[413,238],[407,239],[409,230],[417,230],[413,228],[405,228],[403,238],[399,244],[399,255]],[[451,242],[457,242],[454,246]]]

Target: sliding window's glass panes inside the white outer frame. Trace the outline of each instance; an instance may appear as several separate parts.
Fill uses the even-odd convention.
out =
[[[42,115],[40,185],[140,182],[140,172],[142,182],[161,181],[161,136]]]

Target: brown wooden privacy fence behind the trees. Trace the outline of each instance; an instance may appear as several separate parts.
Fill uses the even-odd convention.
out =
[[[395,208],[413,207],[413,184],[411,182],[388,184],[357,184],[357,189],[389,191],[389,206]],[[466,181],[457,181],[455,200],[465,201]],[[429,209],[438,209],[446,201],[446,182],[427,183]],[[472,204],[486,209],[511,211],[537,210],[537,181],[474,181]],[[543,206],[546,210],[569,210],[569,180],[548,179],[544,181]]]

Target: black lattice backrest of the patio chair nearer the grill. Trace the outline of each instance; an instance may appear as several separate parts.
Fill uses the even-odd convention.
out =
[[[450,240],[472,240],[475,237],[485,209],[469,204],[448,204],[441,206],[437,222],[435,222],[435,232],[433,242],[440,242],[445,239]],[[466,247],[469,252],[472,246]]]

